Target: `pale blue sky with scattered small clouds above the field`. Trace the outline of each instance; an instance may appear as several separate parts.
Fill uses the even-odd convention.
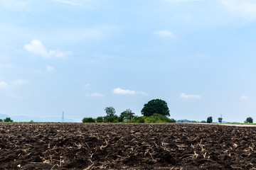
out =
[[[0,0],[0,113],[256,119],[255,21],[254,0]]]

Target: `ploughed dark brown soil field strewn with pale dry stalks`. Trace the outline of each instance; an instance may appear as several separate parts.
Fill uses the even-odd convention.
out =
[[[0,169],[256,169],[256,127],[0,123]]]

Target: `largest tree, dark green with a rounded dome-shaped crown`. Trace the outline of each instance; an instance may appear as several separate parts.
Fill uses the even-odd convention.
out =
[[[170,111],[166,101],[163,101],[161,99],[153,99],[148,103],[144,104],[144,108],[142,108],[142,115],[151,116],[154,115],[154,113],[170,116]]]

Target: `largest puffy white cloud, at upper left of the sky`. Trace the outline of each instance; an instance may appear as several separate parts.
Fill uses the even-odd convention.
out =
[[[41,55],[42,57],[67,57],[71,52],[61,52],[59,50],[46,50],[46,47],[40,40],[32,40],[30,44],[24,45],[24,49],[33,55]]]

